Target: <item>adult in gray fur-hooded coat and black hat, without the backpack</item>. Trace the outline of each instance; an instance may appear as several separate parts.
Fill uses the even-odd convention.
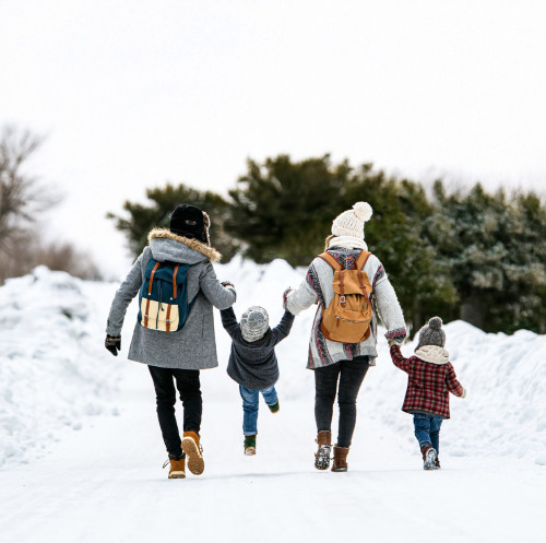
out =
[[[199,373],[218,365],[213,306],[226,309],[236,298],[234,286],[219,283],[214,273],[212,263],[217,262],[221,255],[210,246],[209,226],[206,213],[181,204],[171,214],[169,229],[153,229],[149,235],[150,245],[116,292],[106,328],[105,346],[117,356],[127,307],[144,283],[150,260],[188,264],[187,295],[188,302],[193,300],[193,304],[183,328],[168,332],[158,326],[154,329],[147,322],[149,311],[142,307],[142,318],[134,326],[128,355],[129,359],[149,366],[156,392],[157,417],[170,461],[170,479],[186,476],[186,456],[192,473],[203,472],[199,442],[202,416]],[[182,439],[175,417],[175,383],[183,405]]]

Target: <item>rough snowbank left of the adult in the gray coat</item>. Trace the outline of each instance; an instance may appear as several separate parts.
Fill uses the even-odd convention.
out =
[[[0,465],[28,461],[110,403],[120,364],[104,349],[115,285],[37,268],[0,288]]]

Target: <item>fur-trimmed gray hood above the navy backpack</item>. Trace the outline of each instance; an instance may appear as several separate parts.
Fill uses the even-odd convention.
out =
[[[159,262],[183,262],[194,264],[209,260],[219,262],[222,255],[199,239],[173,234],[168,228],[154,228],[147,235],[153,257]]]

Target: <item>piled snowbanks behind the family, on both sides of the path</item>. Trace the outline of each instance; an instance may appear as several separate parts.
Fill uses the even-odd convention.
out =
[[[272,326],[281,319],[282,293],[297,287],[305,270],[283,260],[254,264],[234,259],[215,267],[218,279],[237,287],[235,312],[265,307]],[[116,285],[88,283],[64,273],[36,269],[0,288],[0,464],[28,460],[61,428],[79,429],[90,415],[116,414],[112,397],[123,357],[104,349],[104,328]],[[127,354],[135,319],[132,304],[122,332]],[[313,374],[305,369],[314,307],[299,315],[290,335],[277,347],[283,402],[302,400],[312,409]],[[219,368],[202,373],[205,398],[237,402],[237,385],[225,374],[229,338],[216,311]],[[451,397],[452,418],[442,426],[441,447],[451,456],[510,456],[546,464],[546,337],[529,331],[487,334],[462,321],[446,326],[447,349],[465,400]],[[415,344],[402,352],[410,356]],[[406,375],[379,341],[377,366],[359,396],[359,417],[379,421],[404,436],[414,451],[412,417],[400,409]],[[230,403],[232,404],[232,403]],[[363,438],[364,439],[364,438]],[[441,455],[441,453],[440,453]]]

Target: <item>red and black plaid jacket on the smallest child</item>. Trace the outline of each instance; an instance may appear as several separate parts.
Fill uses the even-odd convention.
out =
[[[464,391],[451,363],[435,364],[417,356],[404,358],[397,345],[391,346],[391,357],[396,367],[408,374],[402,411],[431,413],[449,418],[449,392],[463,396]]]

